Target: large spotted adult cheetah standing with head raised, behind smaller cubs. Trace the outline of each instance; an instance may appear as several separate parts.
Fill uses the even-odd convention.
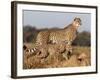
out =
[[[47,44],[59,44],[61,42],[65,42],[66,45],[71,46],[73,40],[76,38],[76,32],[80,25],[81,19],[74,18],[72,23],[63,29],[39,32],[36,38],[35,49],[33,50],[37,50],[38,46],[45,46]]]

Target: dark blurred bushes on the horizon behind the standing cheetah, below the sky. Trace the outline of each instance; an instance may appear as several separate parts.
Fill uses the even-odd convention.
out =
[[[36,36],[40,31],[47,30],[45,29],[36,29],[36,26],[24,26],[23,27],[23,42],[24,43],[35,43]],[[90,32],[77,32],[77,37],[73,41],[73,44],[75,46],[91,46],[91,34]]]

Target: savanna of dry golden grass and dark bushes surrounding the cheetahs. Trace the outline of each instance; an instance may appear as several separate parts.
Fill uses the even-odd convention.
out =
[[[23,45],[26,45],[28,49],[34,48],[38,33],[44,30],[47,29],[37,30],[31,26],[23,27]],[[48,55],[46,58],[41,58],[41,54],[32,54],[23,50],[23,69],[91,66],[90,32],[77,32],[72,49],[69,59],[63,57],[62,54],[56,53]]]

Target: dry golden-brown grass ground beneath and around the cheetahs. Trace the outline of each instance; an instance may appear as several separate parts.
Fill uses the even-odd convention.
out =
[[[34,47],[32,43],[24,44],[28,48]],[[24,51],[23,69],[90,66],[90,53],[90,47],[73,46],[73,53],[70,59],[65,59],[62,54],[53,54],[52,56],[49,55],[47,58],[41,59],[37,55],[30,56],[30,54]],[[82,60],[79,59],[81,54],[86,55]]]

